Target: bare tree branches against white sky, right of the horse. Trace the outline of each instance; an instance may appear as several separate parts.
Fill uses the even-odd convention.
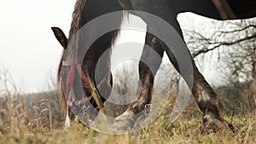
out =
[[[212,21],[218,31],[185,31],[194,58],[218,55],[219,68],[230,83],[256,80],[256,19]]]

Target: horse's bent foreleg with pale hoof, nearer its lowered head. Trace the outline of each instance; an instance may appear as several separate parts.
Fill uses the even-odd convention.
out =
[[[137,121],[138,113],[143,112],[146,105],[150,103],[153,91],[154,75],[160,67],[163,53],[164,49],[162,49],[160,41],[158,41],[158,39],[153,35],[147,33],[146,45],[143,49],[143,55],[139,62],[139,77],[142,83],[140,95],[137,97],[136,101],[133,101],[129,105],[128,109],[123,114],[118,118],[115,118],[113,128],[119,130],[131,129]],[[150,64],[150,66],[148,66],[148,64]]]

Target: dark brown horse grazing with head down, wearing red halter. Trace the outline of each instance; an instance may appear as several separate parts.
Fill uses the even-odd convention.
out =
[[[105,60],[101,63],[102,71],[108,73],[107,77],[104,74],[98,74],[97,76],[97,78],[102,79],[102,83],[96,83],[96,80],[94,79],[97,75],[95,69],[97,61],[104,52],[107,51],[108,55],[111,55],[111,50],[108,50],[108,48],[113,45],[118,37],[119,30],[107,32],[102,35],[90,45],[85,56],[80,55],[80,51],[83,48],[79,48],[79,44],[73,43],[72,39],[76,37],[76,33],[79,32],[79,29],[88,24],[90,20],[94,20],[103,14],[125,11],[125,13],[135,14],[141,17],[146,24],[150,23],[147,16],[136,12],[141,11],[148,14],[154,14],[160,19],[165,20],[176,30],[178,35],[183,38],[183,32],[177,22],[177,14],[192,12],[214,20],[240,20],[256,16],[255,8],[256,2],[252,0],[77,0],[73,11],[73,20],[68,38],[60,28],[52,27],[55,37],[64,48],[58,69],[58,85],[60,87],[61,95],[61,113],[63,115],[67,113],[66,124],[68,125],[67,122],[69,119],[68,107],[72,106],[72,104],[67,103],[64,93],[69,96],[71,95],[70,97],[67,96],[67,98],[73,100],[73,95],[78,94],[77,91],[81,90],[77,88],[77,85],[70,83],[71,81],[82,81],[82,90],[84,90],[84,93],[87,94],[86,98],[88,98],[86,101],[90,101],[95,109],[101,109],[103,107],[102,103],[108,99],[108,96],[103,96],[101,93],[101,95],[99,95],[100,102],[97,102],[96,99],[91,98],[93,90],[91,90],[92,88],[90,86],[94,85],[94,88],[96,88],[95,91],[98,92],[98,84],[107,85],[109,89],[111,89],[112,85],[112,74],[109,68],[110,56],[106,56]],[[126,15],[127,14],[116,14],[114,18],[115,20],[109,20],[106,24],[120,26]],[[181,72],[181,67],[178,66],[177,57],[174,55],[174,52],[168,49],[168,46],[160,39],[160,37],[156,37],[154,34],[148,32],[151,28],[155,30],[160,29],[160,27],[161,26],[147,27],[145,47],[146,45],[150,46],[154,49],[154,52],[160,55],[160,57],[162,57],[166,51],[172,65],[177,72],[180,72],[187,84],[189,84],[189,81],[193,78],[194,82],[191,84],[191,91],[203,113],[202,119],[204,125],[211,125],[212,129],[217,129],[219,125],[224,124],[228,129],[235,130],[233,125],[224,119],[220,108],[221,103],[218,101],[218,94],[214,92],[210,84],[207,83],[207,80],[203,77],[201,72],[199,72],[192,56],[189,54],[193,73]],[[98,28],[99,27],[90,29],[90,35],[86,36],[93,37],[94,32],[96,32]],[[77,37],[77,41],[81,40],[86,42],[88,39],[90,39],[90,37]],[[175,43],[172,39],[168,40]],[[68,46],[70,49],[67,49]],[[186,50],[189,52],[189,49]],[[71,58],[68,59],[69,61],[67,61],[65,55],[71,55]],[[151,102],[154,76],[160,67],[161,60],[154,60],[150,55],[151,54],[148,54],[146,50],[143,50],[143,55],[139,62],[139,78],[142,82],[140,88],[142,89],[141,93],[139,97],[137,97],[137,100],[133,101],[124,113],[115,118],[113,123],[114,128],[124,130],[127,128],[127,125],[134,124],[134,121],[131,120],[131,116],[142,112],[145,109],[145,106]],[[77,60],[82,61],[81,66],[76,63]],[[154,63],[154,68],[149,68],[142,62],[142,60],[147,61],[147,63]],[[67,78],[61,77],[64,74],[67,75]],[[90,83],[90,81],[92,83]],[[105,90],[103,94],[109,95],[109,89]]]

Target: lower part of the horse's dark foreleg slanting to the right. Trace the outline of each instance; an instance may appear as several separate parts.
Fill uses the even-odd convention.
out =
[[[217,130],[221,124],[227,126],[230,130],[235,130],[232,124],[229,124],[224,118],[220,108],[218,95],[214,92],[207,80],[202,76],[194,64],[194,84],[192,94],[195,101],[203,112],[203,124],[207,129]]]

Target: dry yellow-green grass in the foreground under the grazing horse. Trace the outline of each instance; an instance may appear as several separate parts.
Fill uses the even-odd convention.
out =
[[[40,118],[28,118],[22,101],[15,102],[3,96],[5,109],[0,110],[0,144],[135,144],[135,143],[255,143],[256,112],[227,117],[238,131],[221,129],[213,133],[202,132],[201,114],[198,110],[185,110],[174,122],[168,121],[168,109],[147,128],[129,135],[105,135],[89,130],[78,121],[69,129],[57,124],[42,124]],[[44,111],[44,110],[42,110]],[[2,112],[2,113],[1,113]],[[51,121],[51,118],[47,119]]]

